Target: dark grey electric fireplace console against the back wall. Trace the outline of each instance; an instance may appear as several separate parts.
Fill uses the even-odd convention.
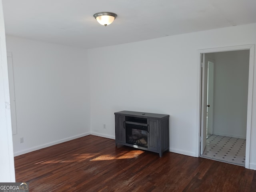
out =
[[[159,153],[169,151],[169,115],[115,112],[116,146],[122,144]]]

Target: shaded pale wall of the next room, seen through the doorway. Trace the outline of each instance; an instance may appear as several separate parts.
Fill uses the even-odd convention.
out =
[[[215,53],[214,134],[246,138],[249,50]]]

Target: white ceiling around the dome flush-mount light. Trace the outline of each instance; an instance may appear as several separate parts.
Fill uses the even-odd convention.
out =
[[[256,0],[2,0],[6,34],[96,48],[256,22]],[[118,16],[109,26],[96,12]]]

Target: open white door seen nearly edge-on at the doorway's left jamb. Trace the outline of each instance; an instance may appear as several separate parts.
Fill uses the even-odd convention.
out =
[[[200,154],[204,152],[206,146],[207,128],[207,82],[208,82],[208,58],[202,54],[202,103],[201,103],[201,135]]]

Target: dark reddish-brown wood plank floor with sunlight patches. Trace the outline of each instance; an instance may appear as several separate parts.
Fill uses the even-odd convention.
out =
[[[115,147],[85,136],[14,158],[16,182],[30,192],[255,192],[256,171],[171,152]]]

